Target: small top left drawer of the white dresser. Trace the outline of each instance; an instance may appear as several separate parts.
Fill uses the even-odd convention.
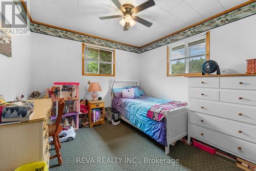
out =
[[[189,87],[219,88],[219,78],[189,78]]]

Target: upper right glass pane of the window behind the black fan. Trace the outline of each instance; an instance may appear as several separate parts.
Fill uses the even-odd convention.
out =
[[[189,42],[187,46],[187,56],[198,56],[206,53],[205,38],[193,42]]]

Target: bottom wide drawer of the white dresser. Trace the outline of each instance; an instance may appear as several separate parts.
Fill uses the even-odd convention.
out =
[[[199,140],[206,141],[216,145],[218,148],[224,148],[229,153],[240,155],[252,161],[256,161],[256,144],[231,137],[205,127],[189,124],[189,135]],[[241,149],[240,149],[241,148]]]

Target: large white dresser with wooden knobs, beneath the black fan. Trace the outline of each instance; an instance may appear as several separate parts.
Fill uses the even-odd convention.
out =
[[[188,78],[188,141],[256,163],[256,74]]]

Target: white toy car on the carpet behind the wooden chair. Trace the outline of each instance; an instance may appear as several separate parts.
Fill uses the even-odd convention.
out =
[[[72,141],[73,139],[76,138],[76,133],[75,129],[72,126],[65,126],[62,125],[62,131],[59,133],[59,141],[64,142],[64,141]],[[50,137],[50,145],[53,145],[53,138]]]

